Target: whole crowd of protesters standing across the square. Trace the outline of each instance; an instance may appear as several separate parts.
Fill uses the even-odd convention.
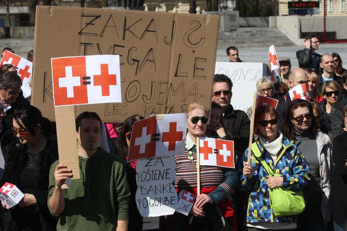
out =
[[[255,83],[258,95],[278,104],[255,110],[251,150],[251,114],[232,106],[227,76],[214,75],[210,110],[186,107],[186,146],[174,156],[172,184],[197,197],[189,216],[162,216],[152,230],[347,230],[347,72],[338,53],[316,53],[317,36],[307,36],[304,46],[299,67],[279,57],[282,81]],[[226,56],[242,62],[235,46]],[[32,50],[27,58],[32,61]],[[308,84],[309,101],[291,100],[288,91],[300,84]],[[137,161],[127,162],[127,154],[133,125],[144,118],[134,114],[112,124],[95,112],[79,114],[80,179],[66,190],[76,172],[59,163],[54,123],[23,97],[21,85],[16,67],[0,67],[0,186],[9,182],[24,193],[12,208],[2,202],[1,230],[142,230]],[[203,166],[198,182],[197,137],[205,136],[234,141],[236,168]],[[280,188],[302,195],[305,209],[275,213],[270,192]]]

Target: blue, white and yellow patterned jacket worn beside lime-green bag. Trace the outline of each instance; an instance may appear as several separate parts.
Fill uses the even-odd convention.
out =
[[[296,144],[291,143],[286,137],[283,137],[282,147],[278,152],[277,160],[274,163],[271,154],[256,141],[263,159],[272,167],[275,174],[283,176],[283,188],[301,191],[310,180],[310,170],[303,154]],[[250,192],[247,206],[246,222],[286,222],[295,223],[296,216],[276,217],[273,214],[270,204],[269,187],[266,185],[268,173],[263,165],[252,154],[251,165],[254,169],[253,178],[248,180],[242,174],[244,162],[247,161],[248,149],[239,162],[238,169],[241,171],[241,191]]]

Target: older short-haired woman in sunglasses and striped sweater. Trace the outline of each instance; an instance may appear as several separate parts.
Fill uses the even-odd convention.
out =
[[[193,103],[186,108],[186,112],[188,133],[185,153],[174,156],[177,171],[175,187],[178,192],[187,190],[197,194],[196,142],[197,137],[205,136],[208,110],[203,105]],[[228,197],[237,184],[238,176],[235,169],[200,166],[201,194],[196,197],[190,212],[193,216],[192,222],[189,222],[191,216],[175,213],[174,230],[220,230],[224,217],[232,220],[230,223],[233,223],[236,229],[234,210]],[[219,215],[221,213],[224,217]],[[228,222],[225,222],[224,228],[223,230],[231,230]]]

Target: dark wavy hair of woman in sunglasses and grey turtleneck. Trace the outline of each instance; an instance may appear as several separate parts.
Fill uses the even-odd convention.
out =
[[[309,108],[309,111],[313,117],[313,107],[309,101],[306,101],[304,99],[295,99],[292,102],[290,102],[287,113],[285,115],[285,119],[282,125],[282,133],[283,135],[288,139],[294,139],[294,127],[295,125],[292,123],[293,118],[293,111],[297,109],[298,107],[307,107]],[[316,135],[317,131],[319,129],[319,124],[316,123],[316,120],[312,119],[311,126],[309,128],[309,131]]]

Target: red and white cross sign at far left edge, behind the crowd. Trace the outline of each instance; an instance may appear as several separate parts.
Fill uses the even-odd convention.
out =
[[[3,58],[1,59],[0,66],[4,64],[12,64],[17,68],[17,73],[22,79],[23,96],[26,98],[31,95],[32,62],[24,59],[23,57],[6,50]]]

